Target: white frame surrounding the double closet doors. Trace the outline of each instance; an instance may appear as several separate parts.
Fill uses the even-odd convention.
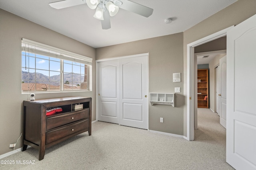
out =
[[[136,55],[127,55],[127,56],[121,56],[121,57],[112,57],[112,58],[107,58],[107,59],[99,59],[96,60],[96,121],[98,121],[98,63],[102,62],[102,61],[112,61],[112,60],[119,60],[119,59],[127,59],[127,58],[132,58],[132,57],[141,57],[141,56],[148,56],[149,57],[149,53],[141,53],[141,54],[136,54]],[[148,58],[149,61],[149,58]],[[148,73],[149,73],[149,62],[148,62]],[[148,87],[149,87],[149,74],[148,74]],[[149,94],[149,88],[148,88],[148,92],[147,94]],[[148,99],[149,101],[149,99]],[[149,111],[148,111],[149,113]],[[149,117],[149,114],[148,114]],[[119,123],[119,122],[118,122]],[[148,119],[148,127],[149,127],[149,119]]]

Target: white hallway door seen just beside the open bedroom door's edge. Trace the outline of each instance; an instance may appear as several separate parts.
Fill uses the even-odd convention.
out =
[[[226,128],[227,119],[227,56],[220,59],[220,93],[219,96],[219,111],[220,124]]]

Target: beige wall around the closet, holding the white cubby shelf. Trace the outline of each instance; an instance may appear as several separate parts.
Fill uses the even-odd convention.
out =
[[[149,53],[149,92],[176,94],[175,107],[149,104],[149,129],[183,135],[183,33],[144,39],[96,49],[96,59]],[[173,82],[172,73],[180,72],[181,82]],[[160,123],[160,117],[164,123]]]

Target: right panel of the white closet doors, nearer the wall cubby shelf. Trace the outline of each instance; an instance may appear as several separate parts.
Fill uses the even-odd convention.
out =
[[[120,60],[119,124],[148,129],[148,56]]]

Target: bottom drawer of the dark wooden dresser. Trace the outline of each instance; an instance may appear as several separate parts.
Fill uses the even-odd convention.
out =
[[[64,127],[60,127],[53,131],[46,132],[46,145],[62,139],[68,135],[82,131],[89,128],[89,119],[78,121],[76,123],[69,124]]]

